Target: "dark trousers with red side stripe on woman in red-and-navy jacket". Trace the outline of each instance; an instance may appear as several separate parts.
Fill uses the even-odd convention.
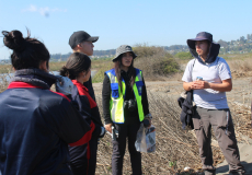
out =
[[[70,166],[73,175],[94,175],[96,168],[98,138],[79,147],[69,147]]]

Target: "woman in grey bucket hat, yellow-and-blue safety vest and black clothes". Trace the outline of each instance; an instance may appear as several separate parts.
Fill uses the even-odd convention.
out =
[[[113,59],[114,68],[105,72],[103,81],[105,129],[116,133],[113,139],[113,175],[121,175],[123,172],[126,138],[128,138],[133,175],[141,174],[141,153],[136,151],[135,141],[140,122],[150,114],[142,72],[134,68],[136,57],[130,46],[119,46]],[[150,126],[150,119],[147,121]],[[112,131],[112,128],[115,129]]]

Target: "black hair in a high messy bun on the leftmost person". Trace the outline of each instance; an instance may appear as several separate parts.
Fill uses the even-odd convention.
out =
[[[47,61],[50,58],[49,51],[43,43],[36,38],[31,38],[27,31],[27,37],[23,37],[20,31],[2,31],[3,44],[13,50],[11,55],[12,66],[16,69],[39,68],[41,61]]]

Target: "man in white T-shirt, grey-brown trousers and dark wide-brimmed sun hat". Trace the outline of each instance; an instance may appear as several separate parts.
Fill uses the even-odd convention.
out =
[[[201,32],[196,38],[187,39],[194,59],[185,69],[182,80],[185,91],[193,90],[196,109],[193,125],[199,147],[205,175],[215,175],[210,148],[211,127],[219,147],[229,163],[231,174],[244,174],[234,135],[234,128],[227,103],[226,92],[232,90],[231,71],[228,63],[218,57],[220,45],[213,42],[213,35]]]

